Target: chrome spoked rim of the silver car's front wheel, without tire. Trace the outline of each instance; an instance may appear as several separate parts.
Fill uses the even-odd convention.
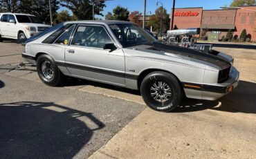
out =
[[[150,87],[150,95],[157,102],[167,102],[172,97],[172,88],[163,81],[156,81]]]

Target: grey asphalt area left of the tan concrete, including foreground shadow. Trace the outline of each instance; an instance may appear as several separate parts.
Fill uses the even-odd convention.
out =
[[[87,158],[145,109],[142,104],[49,87],[22,62],[22,47],[0,43],[0,158]],[[10,72],[9,72],[10,71]]]

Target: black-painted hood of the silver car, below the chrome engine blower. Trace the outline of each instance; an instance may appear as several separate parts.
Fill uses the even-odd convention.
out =
[[[179,46],[170,46],[166,44],[162,44],[160,42],[153,42],[150,46],[145,47],[145,45],[134,46],[133,48],[147,51],[147,50],[154,50],[149,51],[149,53],[155,53],[165,56],[172,56],[172,57],[179,57],[183,59],[197,59],[202,62],[207,62],[213,64],[215,66],[219,66],[220,68],[227,68],[231,66],[230,62],[227,62],[220,57],[215,55],[210,55],[208,53],[201,53],[197,50],[192,50],[190,48],[181,48]]]

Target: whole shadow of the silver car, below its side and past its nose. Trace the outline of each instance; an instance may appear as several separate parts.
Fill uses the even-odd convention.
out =
[[[91,85],[101,88],[108,88],[114,91],[121,91],[134,95],[140,95],[140,91],[130,90],[109,84],[91,82],[84,79],[70,78],[65,86]],[[216,111],[228,111],[232,113],[256,113],[256,83],[240,81],[239,86],[221,99],[216,101],[194,100],[185,98],[180,106],[172,113],[203,111],[212,109]]]

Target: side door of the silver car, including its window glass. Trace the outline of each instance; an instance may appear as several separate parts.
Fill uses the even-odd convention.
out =
[[[122,49],[104,50],[114,44],[100,25],[79,25],[65,50],[65,64],[71,75],[125,86],[125,55]]]

